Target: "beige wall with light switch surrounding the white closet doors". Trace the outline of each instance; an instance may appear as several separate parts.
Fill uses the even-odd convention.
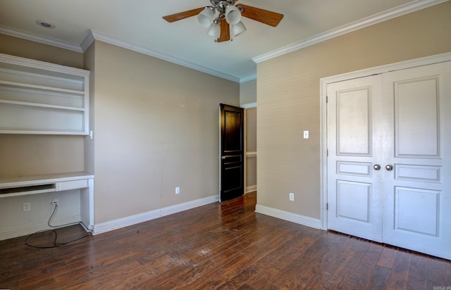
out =
[[[320,79],[451,51],[450,15],[447,1],[259,63],[257,203],[319,218]]]

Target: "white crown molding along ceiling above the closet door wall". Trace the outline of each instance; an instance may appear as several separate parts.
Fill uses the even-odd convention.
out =
[[[408,4],[404,4],[401,6],[397,6],[395,8],[389,9],[387,11],[383,11],[381,13],[377,13],[371,15],[366,18],[362,18],[361,20],[357,20],[353,23],[349,23],[347,25],[342,25],[333,30],[328,30],[326,32],[316,34],[313,37],[309,37],[303,39],[299,42],[295,42],[293,44],[289,44],[288,46],[283,46],[280,49],[276,49],[270,51],[268,53],[261,54],[260,56],[255,56],[252,58],[252,61],[255,63],[261,63],[262,61],[268,61],[271,58],[276,58],[277,56],[283,56],[286,53],[290,53],[292,51],[297,51],[299,49],[303,49],[304,47],[311,46],[313,44],[317,44],[319,42],[323,42],[328,39],[332,39],[334,37],[338,37],[342,34],[346,34],[349,32],[353,32],[355,30],[359,30],[364,27],[368,27],[370,25],[381,23],[385,20],[390,20],[392,18],[396,18],[398,16],[412,13],[414,11],[419,11],[424,8],[428,8],[430,6],[434,6],[448,0],[417,0]]]

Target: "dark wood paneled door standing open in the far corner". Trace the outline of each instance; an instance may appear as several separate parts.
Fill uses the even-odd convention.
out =
[[[244,193],[244,110],[221,103],[221,201]]]

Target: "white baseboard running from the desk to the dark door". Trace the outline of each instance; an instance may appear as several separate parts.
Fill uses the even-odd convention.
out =
[[[173,213],[180,213],[184,210],[189,210],[191,208],[197,208],[199,206],[205,206],[209,203],[214,203],[219,201],[219,196],[208,196],[205,198],[199,198],[194,201],[187,201],[185,203],[176,204],[175,206],[167,206],[166,208],[159,208],[156,210],[151,210],[146,213],[140,213],[137,215],[130,215],[128,217],[123,217],[118,220],[111,220],[109,222],[101,222],[94,225],[93,234],[101,234],[104,232],[112,231],[113,229],[121,229],[121,227],[128,227],[130,225],[136,225],[140,222],[147,222],[148,220],[154,220],[158,217],[163,217],[165,215],[172,215]]]

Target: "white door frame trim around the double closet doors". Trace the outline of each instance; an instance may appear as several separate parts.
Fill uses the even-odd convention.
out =
[[[344,80],[352,80],[359,77],[367,77],[369,75],[377,75],[388,73],[393,70],[404,70],[406,68],[415,68],[423,65],[431,65],[433,63],[443,63],[451,61],[451,52],[440,53],[433,56],[426,56],[423,58],[414,58],[409,61],[401,61],[398,63],[390,63],[388,65],[381,65],[374,68],[366,68],[364,70],[357,70],[351,73],[344,73],[340,75],[333,75],[330,77],[323,77],[319,80],[319,109],[320,109],[320,196],[321,196],[321,229],[328,229],[327,225],[327,106],[326,94],[327,85],[333,82],[341,82]]]

